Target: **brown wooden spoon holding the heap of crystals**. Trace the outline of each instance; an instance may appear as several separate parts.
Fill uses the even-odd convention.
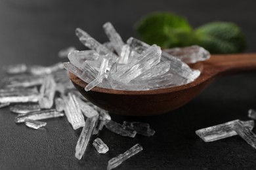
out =
[[[72,73],[69,73],[69,76],[75,88],[102,109],[116,114],[150,116],[169,112],[188,103],[218,76],[256,70],[256,54],[212,55],[209,60],[196,63],[191,67],[203,70],[194,82],[173,88],[146,91],[95,87],[85,92],[87,83]]]

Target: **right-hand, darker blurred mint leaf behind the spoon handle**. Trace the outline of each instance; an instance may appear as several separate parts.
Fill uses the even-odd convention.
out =
[[[195,30],[196,44],[211,53],[238,53],[246,48],[244,34],[231,22],[211,22]]]

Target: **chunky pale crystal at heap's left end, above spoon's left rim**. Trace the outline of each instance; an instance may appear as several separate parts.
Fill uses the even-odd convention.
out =
[[[75,67],[82,69],[83,62],[85,62],[86,60],[97,60],[99,56],[100,55],[97,52],[95,52],[95,50],[75,50],[68,54],[68,59],[70,59],[70,62],[74,64]]]

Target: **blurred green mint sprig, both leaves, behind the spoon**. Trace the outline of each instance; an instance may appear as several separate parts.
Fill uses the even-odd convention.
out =
[[[246,48],[244,34],[231,22],[211,22],[192,30],[186,18],[171,12],[144,16],[135,29],[142,41],[162,48],[198,44],[211,53],[238,53]]]

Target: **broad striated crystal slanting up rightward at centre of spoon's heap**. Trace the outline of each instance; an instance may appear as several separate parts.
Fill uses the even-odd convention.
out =
[[[159,46],[152,45],[141,55],[141,60],[135,65],[125,65],[119,69],[114,75],[114,80],[128,83],[150,67],[158,64],[161,58],[161,49]]]

